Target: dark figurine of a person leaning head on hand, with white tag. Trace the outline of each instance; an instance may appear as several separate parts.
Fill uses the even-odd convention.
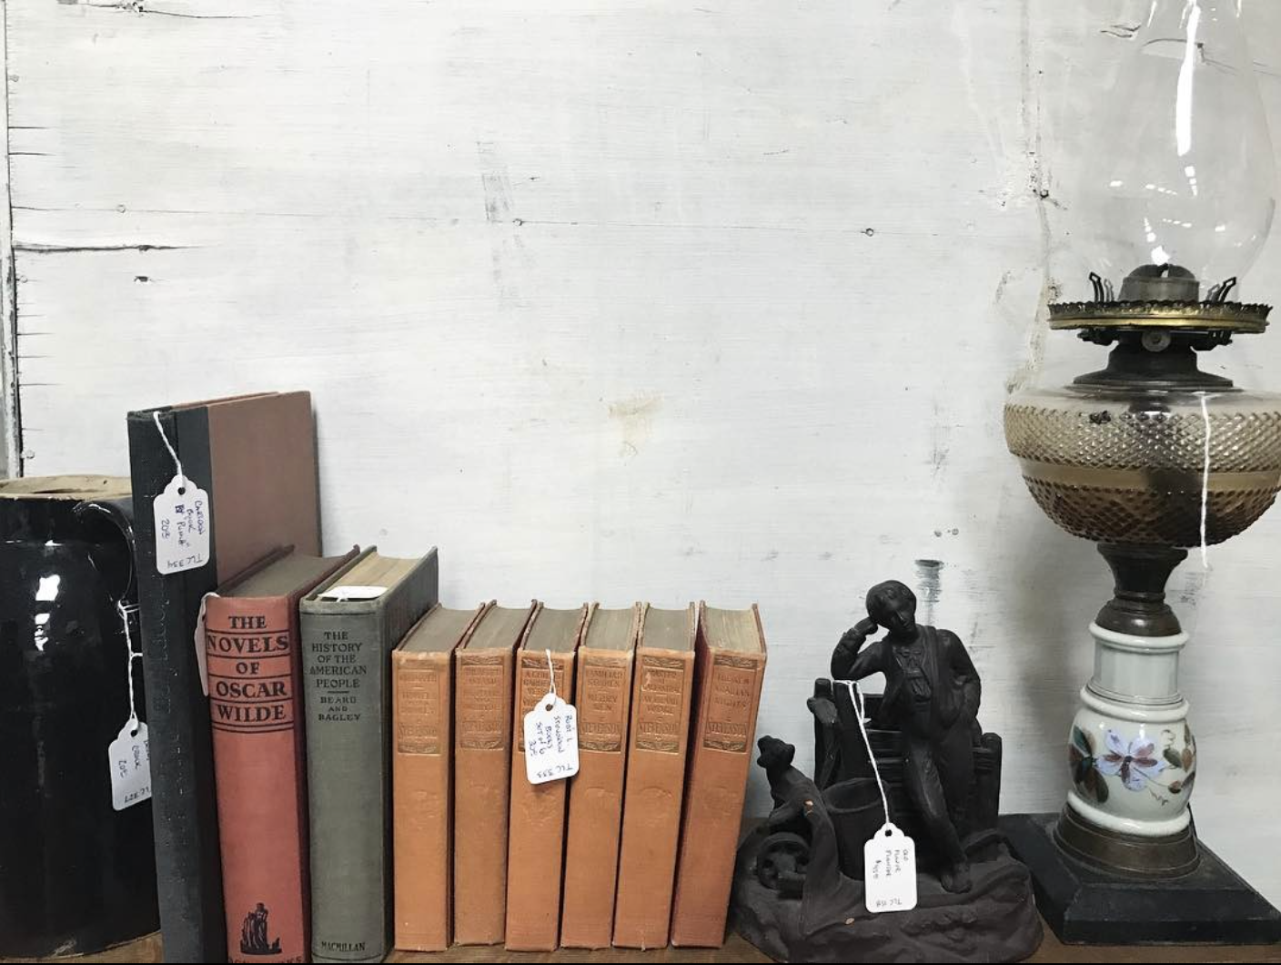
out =
[[[903,583],[866,602],[807,701],[813,778],[792,745],[757,742],[774,811],[739,848],[734,927],[779,961],[1018,961],[1041,928],[997,828],[1000,737],[979,727],[979,674],[956,634],[916,623]],[[885,692],[862,698],[875,673]],[[915,842],[917,902],[874,914],[865,846],[885,823]]]

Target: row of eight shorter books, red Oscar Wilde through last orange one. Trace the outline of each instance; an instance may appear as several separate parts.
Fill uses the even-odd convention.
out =
[[[437,587],[434,550],[279,550],[205,598],[229,960],[721,944],[756,607],[456,610]],[[552,691],[579,770],[535,784],[523,723]]]

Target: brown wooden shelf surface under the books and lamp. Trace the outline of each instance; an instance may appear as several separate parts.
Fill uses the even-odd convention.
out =
[[[0,959],[0,961],[32,961],[32,959]],[[136,942],[122,944],[101,955],[83,955],[76,959],[58,961],[163,961],[160,955],[160,936],[147,936]],[[392,952],[389,962],[474,962],[474,961],[770,961],[738,936],[730,936],[722,948],[657,948],[638,952],[632,948],[606,948],[602,951],[561,950],[557,952],[509,952],[500,946],[475,947],[455,946],[447,952]],[[1053,933],[1045,929],[1045,941],[1029,961],[1059,962],[1281,962],[1281,946],[1150,946],[1132,947],[1116,944],[1062,944]]]

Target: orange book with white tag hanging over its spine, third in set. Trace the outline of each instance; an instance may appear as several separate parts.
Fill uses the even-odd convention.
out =
[[[556,695],[566,704],[574,702],[574,651],[585,619],[585,606],[548,610],[539,605],[516,659],[511,820],[507,825],[506,946],[512,951],[553,951],[560,943],[566,782],[529,783],[524,723],[525,714],[551,691],[552,673]]]

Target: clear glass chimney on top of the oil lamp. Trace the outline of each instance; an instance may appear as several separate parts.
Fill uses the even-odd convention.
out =
[[[1153,0],[1129,42],[1090,120],[1073,235],[1121,300],[1226,295],[1223,283],[1258,256],[1276,209],[1240,0]]]

